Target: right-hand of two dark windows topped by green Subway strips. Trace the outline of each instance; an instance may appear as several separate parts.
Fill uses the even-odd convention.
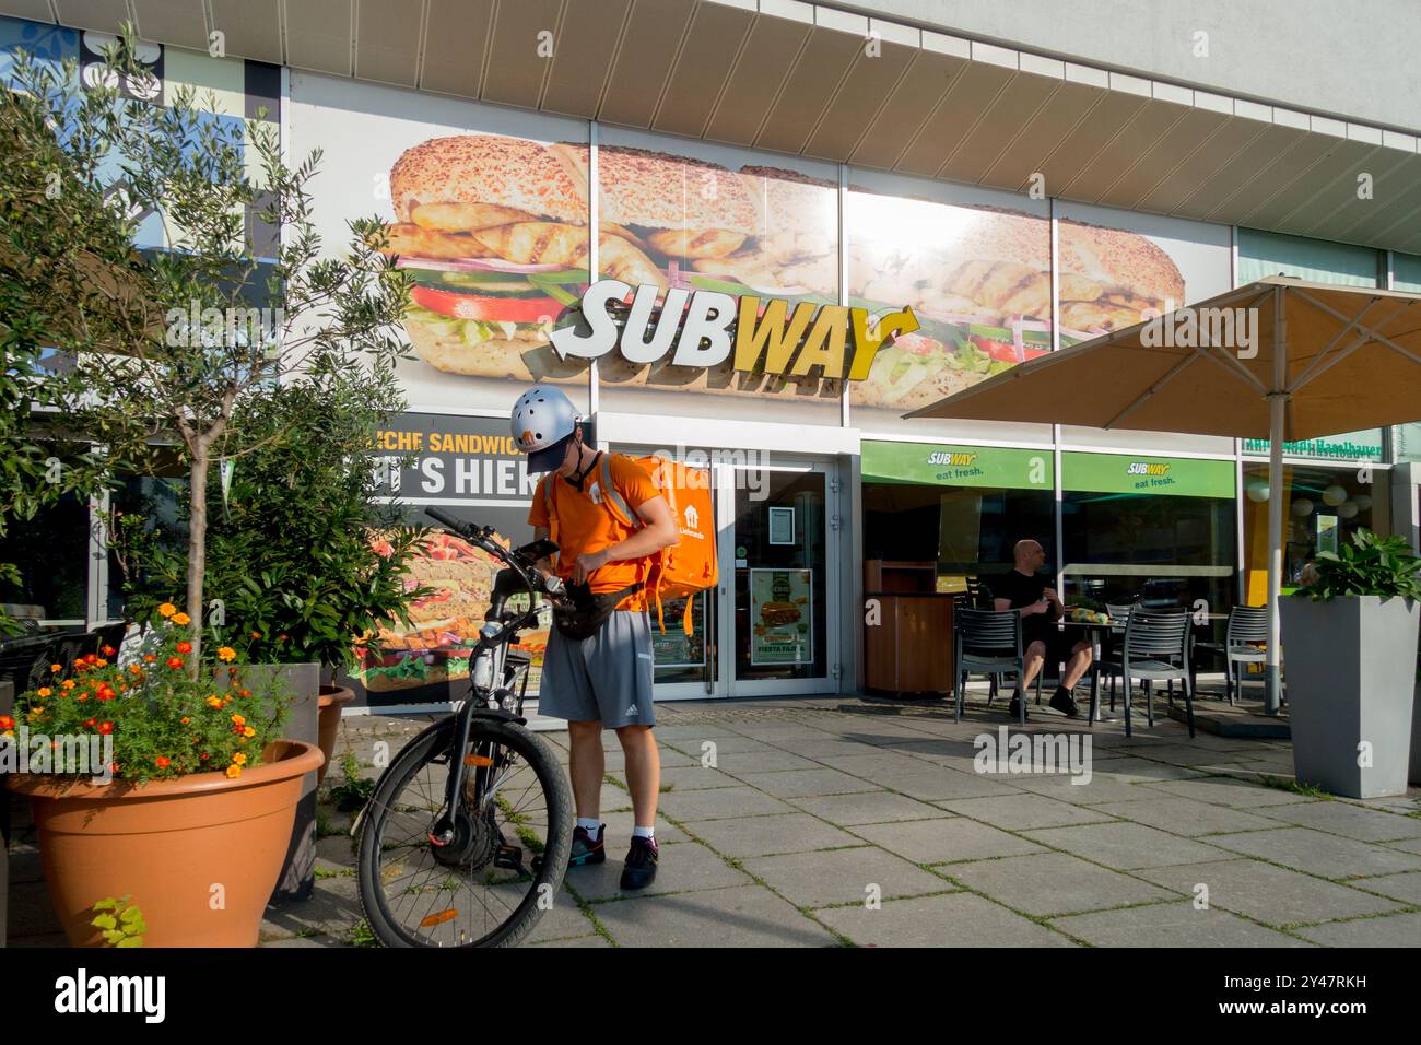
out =
[[[1064,454],[1061,485],[1067,603],[1233,603],[1233,462]]]

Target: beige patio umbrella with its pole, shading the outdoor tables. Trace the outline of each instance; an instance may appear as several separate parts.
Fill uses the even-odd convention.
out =
[[[1283,444],[1421,418],[1421,294],[1270,276],[907,417],[1270,439],[1265,707],[1276,714]]]

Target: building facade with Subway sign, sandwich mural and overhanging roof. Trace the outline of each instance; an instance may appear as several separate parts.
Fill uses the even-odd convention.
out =
[[[1306,40],[1255,24],[1310,7]],[[990,583],[1023,537],[1067,601],[1262,601],[1266,442],[904,414],[1262,276],[1421,290],[1421,88],[1368,57],[1421,16],[1383,4],[1411,31],[1377,34],[1344,7],[38,0],[0,3],[0,75],[20,47],[91,61],[136,17],[165,91],[320,149],[331,250],[377,215],[418,270],[389,498],[530,536],[507,417],[557,382],[600,445],[712,475],[720,583],[658,636],[658,695],[855,692],[877,591]],[[1302,73],[1339,48],[1366,74]],[[634,307],[595,360],[556,351],[600,280],[708,328],[759,303],[723,344]],[[905,309],[918,328],[863,354],[854,317]],[[1287,580],[1358,526],[1417,542],[1421,425],[1285,452]],[[20,601],[101,621],[121,601],[71,515]],[[445,579],[469,618],[480,569]],[[369,705],[448,698],[460,626],[422,623],[357,680]]]

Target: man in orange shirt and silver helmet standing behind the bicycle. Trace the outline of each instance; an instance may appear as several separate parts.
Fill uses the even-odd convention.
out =
[[[554,627],[543,655],[539,712],[567,719],[568,775],[577,805],[570,864],[607,859],[600,820],[603,729],[615,729],[637,819],[621,887],[644,889],[655,879],[659,859],[661,756],[651,734],[651,618],[641,582],[649,557],[678,543],[675,519],[641,465],[621,454],[603,462],[601,451],[583,442],[577,411],[557,388],[539,385],[519,398],[513,438],[527,452],[530,472],[549,472],[529,510],[536,537],[551,536],[558,545],[557,564],[541,564],[564,582],[587,584],[591,599],[605,610],[605,620],[585,638],[568,638]],[[601,488],[607,473],[612,491]],[[603,503],[614,495],[637,513],[641,526],[622,525]]]

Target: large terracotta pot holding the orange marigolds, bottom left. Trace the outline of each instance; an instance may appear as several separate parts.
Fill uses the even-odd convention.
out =
[[[44,879],[70,944],[97,947],[95,900],[132,896],[145,947],[254,947],[281,874],[314,744],[274,741],[236,781],[193,773],[142,786],[14,776],[40,833]],[[215,907],[222,886],[222,906]]]

